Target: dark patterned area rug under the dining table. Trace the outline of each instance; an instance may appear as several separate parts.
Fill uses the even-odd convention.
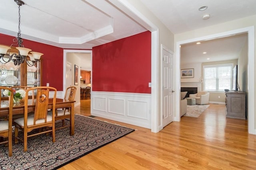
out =
[[[59,124],[56,123],[56,127]],[[27,152],[23,152],[23,144],[14,145],[13,138],[12,157],[8,156],[8,147],[0,145],[0,170],[57,169],[133,131],[127,127],[75,115],[74,136],[69,135],[69,128],[63,128],[55,132],[55,143],[52,143],[52,137],[45,134],[30,137]]]

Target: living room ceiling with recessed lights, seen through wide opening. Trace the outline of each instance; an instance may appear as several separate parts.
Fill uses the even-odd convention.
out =
[[[181,45],[181,64],[205,63],[238,59],[246,45],[248,34],[233,35],[208,41],[200,44],[190,43]],[[204,52],[206,52],[204,54]]]

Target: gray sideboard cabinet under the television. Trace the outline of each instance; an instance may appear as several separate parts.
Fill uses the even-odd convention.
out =
[[[246,119],[245,92],[226,92],[226,117]]]

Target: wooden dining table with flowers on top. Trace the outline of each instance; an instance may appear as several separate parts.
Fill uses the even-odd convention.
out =
[[[3,105],[3,102],[6,102],[6,104],[8,104],[8,101],[4,101],[2,100],[1,105]],[[49,102],[48,102],[48,109],[52,109],[52,102],[53,99],[50,98]],[[70,100],[66,100],[66,99],[60,99],[60,98],[56,98],[56,105],[55,108],[56,109],[60,109],[60,108],[66,108],[66,107],[70,107],[70,135],[74,135],[75,133],[75,115],[74,115],[74,103],[76,101],[70,101]],[[28,101],[28,112],[30,111],[34,111],[35,109],[35,103],[32,101],[32,99],[29,99]],[[6,116],[9,113],[8,110],[8,106],[6,107],[1,107],[0,108],[0,116]],[[12,115],[19,115],[19,114],[24,114],[24,102],[20,102],[20,103],[16,103],[13,104],[12,107]]]

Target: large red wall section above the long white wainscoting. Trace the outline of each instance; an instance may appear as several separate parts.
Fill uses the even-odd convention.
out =
[[[151,94],[151,32],[92,48],[92,90]]]

